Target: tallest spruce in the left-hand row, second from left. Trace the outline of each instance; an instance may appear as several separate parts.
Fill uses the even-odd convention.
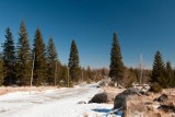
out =
[[[18,42],[18,82],[20,85],[28,85],[31,79],[31,49],[28,34],[24,21],[21,23]]]

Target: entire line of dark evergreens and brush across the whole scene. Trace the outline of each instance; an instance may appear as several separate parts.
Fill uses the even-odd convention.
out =
[[[160,51],[155,54],[153,69],[143,70],[143,82],[150,83],[153,90],[175,86],[175,70],[170,61],[164,63]],[[36,86],[72,86],[82,81],[100,81],[107,77],[117,85],[125,87],[131,86],[140,79],[139,69],[124,65],[116,34],[113,35],[109,69],[91,69],[91,67],[80,66],[75,40],[71,43],[68,65],[62,65],[59,61],[54,38],[49,37],[46,45],[39,27],[35,32],[32,47],[24,21],[20,25],[16,46],[10,27],[5,30],[0,54],[0,85],[30,85],[32,83]]]

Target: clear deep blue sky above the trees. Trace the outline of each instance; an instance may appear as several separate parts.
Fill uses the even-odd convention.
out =
[[[22,19],[31,45],[37,26],[45,43],[51,35],[62,63],[75,39],[83,67],[108,67],[113,33],[117,33],[124,63],[152,67],[156,50],[175,65],[175,0],[0,0],[0,43],[10,26],[18,39]]]

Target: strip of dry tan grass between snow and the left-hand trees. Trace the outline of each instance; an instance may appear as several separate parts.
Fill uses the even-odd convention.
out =
[[[56,86],[32,86],[32,91],[35,92],[43,92],[46,90],[54,90],[57,89]],[[0,95],[4,95],[7,93],[12,93],[12,92],[28,92],[30,91],[30,86],[1,86],[0,87]]]

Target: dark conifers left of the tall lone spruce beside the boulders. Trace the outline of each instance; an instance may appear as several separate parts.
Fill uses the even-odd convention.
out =
[[[46,46],[42,32],[37,27],[33,40],[30,38],[24,21],[19,31],[18,44],[15,46],[13,34],[7,27],[2,51],[0,54],[0,85],[62,85],[71,86],[83,80],[98,81],[102,71],[107,69],[82,68],[79,63],[79,51],[74,40],[71,43],[69,63],[61,65],[56,51],[54,38],[49,37]],[[98,74],[98,71],[101,73]]]

